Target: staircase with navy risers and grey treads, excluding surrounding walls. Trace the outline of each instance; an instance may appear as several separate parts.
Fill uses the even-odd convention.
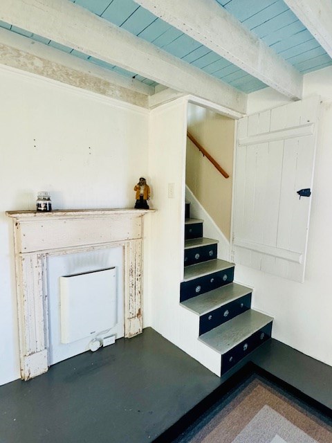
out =
[[[233,282],[234,264],[217,259],[218,241],[185,204],[181,305],[197,315],[198,339],[221,355],[221,375],[271,336],[273,318],[251,309],[252,289]]]

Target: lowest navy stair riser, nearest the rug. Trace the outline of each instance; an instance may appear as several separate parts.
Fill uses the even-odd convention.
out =
[[[221,356],[221,375],[271,337],[272,321]]]

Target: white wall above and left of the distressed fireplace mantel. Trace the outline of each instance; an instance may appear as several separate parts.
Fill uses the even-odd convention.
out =
[[[134,184],[140,175],[149,180],[149,112],[5,67],[0,97],[3,384],[19,377],[12,220],[5,211],[35,209],[39,190],[50,191],[55,209],[133,206]]]

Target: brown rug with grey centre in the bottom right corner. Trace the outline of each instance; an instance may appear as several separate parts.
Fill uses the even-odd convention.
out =
[[[253,375],[173,443],[332,443],[332,419]]]

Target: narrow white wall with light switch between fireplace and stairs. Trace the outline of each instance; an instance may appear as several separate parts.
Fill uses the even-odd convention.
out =
[[[199,320],[180,305],[185,221],[187,100],[151,111],[149,170],[156,213],[151,217],[149,293],[151,326],[182,350],[220,373],[220,355],[197,340]],[[174,198],[168,185],[174,184]]]

